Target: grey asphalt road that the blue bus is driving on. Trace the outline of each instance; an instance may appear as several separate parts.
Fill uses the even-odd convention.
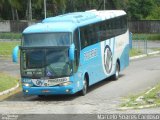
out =
[[[12,66],[10,66],[11,64]],[[5,65],[5,66],[4,66]],[[7,66],[10,68],[7,70]],[[15,70],[16,69],[16,70]],[[0,59],[0,70],[18,74],[19,66]],[[106,79],[90,87],[86,96],[24,96],[21,92],[0,102],[2,114],[160,113],[160,108],[118,110],[122,98],[152,88],[160,81],[160,55],[130,62],[118,81]]]

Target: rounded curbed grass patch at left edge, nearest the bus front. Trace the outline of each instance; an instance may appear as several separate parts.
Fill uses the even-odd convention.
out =
[[[10,89],[18,83],[18,79],[6,73],[0,73],[0,92]]]

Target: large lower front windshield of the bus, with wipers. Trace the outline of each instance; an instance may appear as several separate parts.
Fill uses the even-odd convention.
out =
[[[21,48],[21,74],[23,77],[62,77],[71,74],[67,47]]]

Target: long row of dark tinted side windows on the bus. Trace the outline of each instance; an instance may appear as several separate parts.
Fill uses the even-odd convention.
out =
[[[81,48],[121,35],[127,31],[127,17],[120,16],[80,28]]]

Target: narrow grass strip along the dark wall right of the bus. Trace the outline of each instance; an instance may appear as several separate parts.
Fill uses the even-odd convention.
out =
[[[160,34],[133,34],[133,40],[160,40]]]

